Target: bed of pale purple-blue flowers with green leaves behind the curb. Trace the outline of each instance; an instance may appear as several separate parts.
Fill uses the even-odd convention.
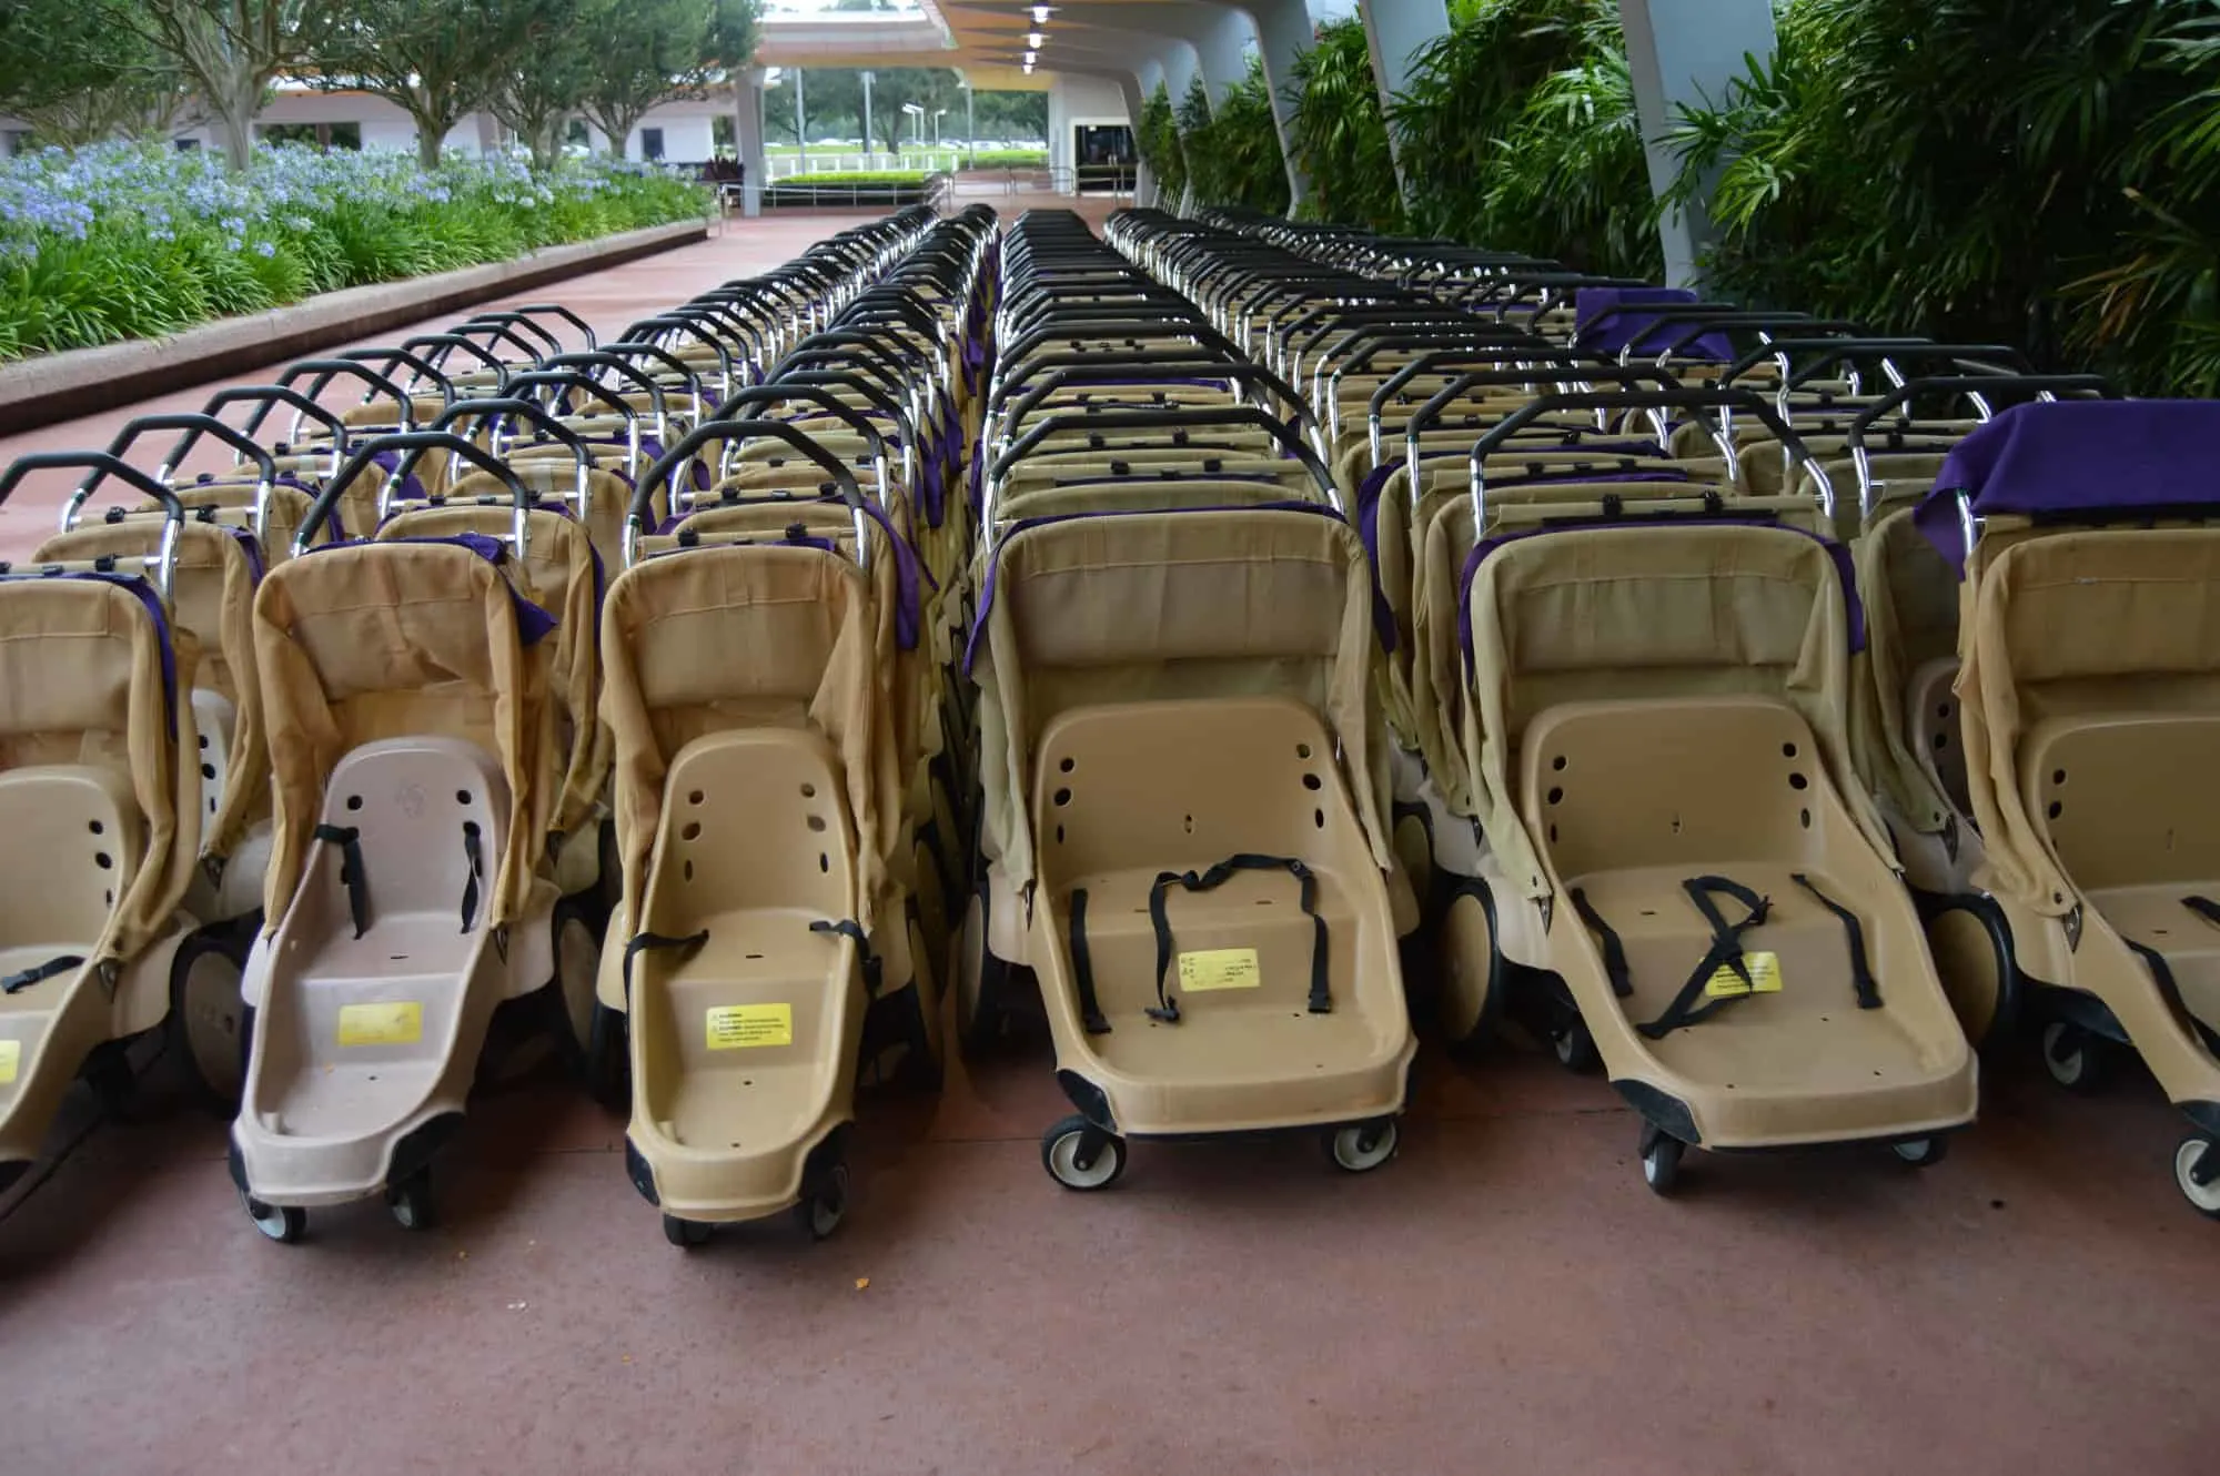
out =
[[[0,160],[0,360],[155,337],[315,293],[699,220],[708,191],[610,158],[100,144]]]

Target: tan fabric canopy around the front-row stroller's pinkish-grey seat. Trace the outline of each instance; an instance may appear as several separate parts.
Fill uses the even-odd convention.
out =
[[[278,930],[333,766],[391,737],[460,737],[508,779],[491,919],[524,914],[553,808],[553,639],[522,646],[508,575],[460,544],[344,544],[280,564],[255,597],[275,830],[264,892]]]

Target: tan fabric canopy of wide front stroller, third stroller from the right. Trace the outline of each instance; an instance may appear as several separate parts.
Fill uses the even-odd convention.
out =
[[[1039,524],[1003,539],[981,619],[981,830],[1012,886],[1035,877],[1030,759],[1057,712],[1265,692],[1325,719],[1372,857],[1388,870],[1372,577],[1341,519],[1223,510]]]

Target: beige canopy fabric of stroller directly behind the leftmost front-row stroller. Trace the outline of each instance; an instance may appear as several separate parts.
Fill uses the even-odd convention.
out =
[[[38,546],[33,564],[142,557],[162,546],[162,517],[84,524]],[[231,752],[222,808],[202,821],[200,850],[226,859],[246,830],[271,812],[269,739],[262,726],[262,688],[255,684],[255,570],[231,528],[186,522],[178,528],[178,566],[171,582],[178,626],[200,646],[191,686],[222,695],[233,710]],[[186,701],[191,708],[191,701]],[[198,775],[198,764],[193,766]],[[200,815],[200,806],[193,806]]]

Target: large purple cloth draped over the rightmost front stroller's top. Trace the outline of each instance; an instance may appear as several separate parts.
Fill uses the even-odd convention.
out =
[[[2220,506],[2220,400],[2016,404],[1958,442],[1911,524],[1960,573],[1974,515]]]

